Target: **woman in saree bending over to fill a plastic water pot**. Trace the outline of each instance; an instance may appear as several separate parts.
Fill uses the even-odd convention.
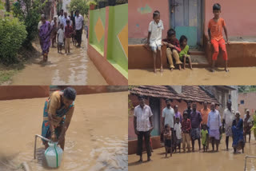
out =
[[[76,91],[67,87],[63,91],[55,91],[46,100],[43,109],[42,137],[58,141],[64,150],[66,130],[69,128],[74,113]],[[42,140],[45,149],[47,141]]]

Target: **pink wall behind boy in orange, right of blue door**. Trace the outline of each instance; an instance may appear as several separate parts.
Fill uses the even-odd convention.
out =
[[[205,33],[207,34],[208,22],[214,17],[213,5],[219,3],[222,6],[221,18],[226,21],[226,27],[229,36],[256,36],[255,31],[255,6],[254,0],[243,1],[216,1],[205,0]],[[225,34],[223,33],[224,38]]]

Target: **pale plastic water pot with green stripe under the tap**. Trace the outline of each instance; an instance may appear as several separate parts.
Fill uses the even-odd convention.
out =
[[[51,168],[58,168],[62,162],[63,150],[58,147],[58,142],[48,142],[48,145],[45,152],[47,165]]]

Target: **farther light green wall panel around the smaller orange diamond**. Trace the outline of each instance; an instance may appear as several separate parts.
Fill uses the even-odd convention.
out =
[[[104,29],[105,29],[106,8],[97,9],[97,10],[90,10],[89,43],[90,43],[91,46],[94,46],[95,50],[97,50],[100,54],[104,55],[104,39],[105,39],[105,36],[103,35],[101,41],[98,42],[95,30],[94,30],[94,27],[96,25],[96,22],[98,21],[98,18],[101,18],[102,24],[103,24]]]

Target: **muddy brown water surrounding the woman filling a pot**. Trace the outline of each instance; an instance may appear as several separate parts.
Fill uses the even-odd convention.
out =
[[[54,170],[128,170],[127,92],[78,95],[62,164]],[[0,101],[0,170],[50,170],[38,139],[46,98]]]

